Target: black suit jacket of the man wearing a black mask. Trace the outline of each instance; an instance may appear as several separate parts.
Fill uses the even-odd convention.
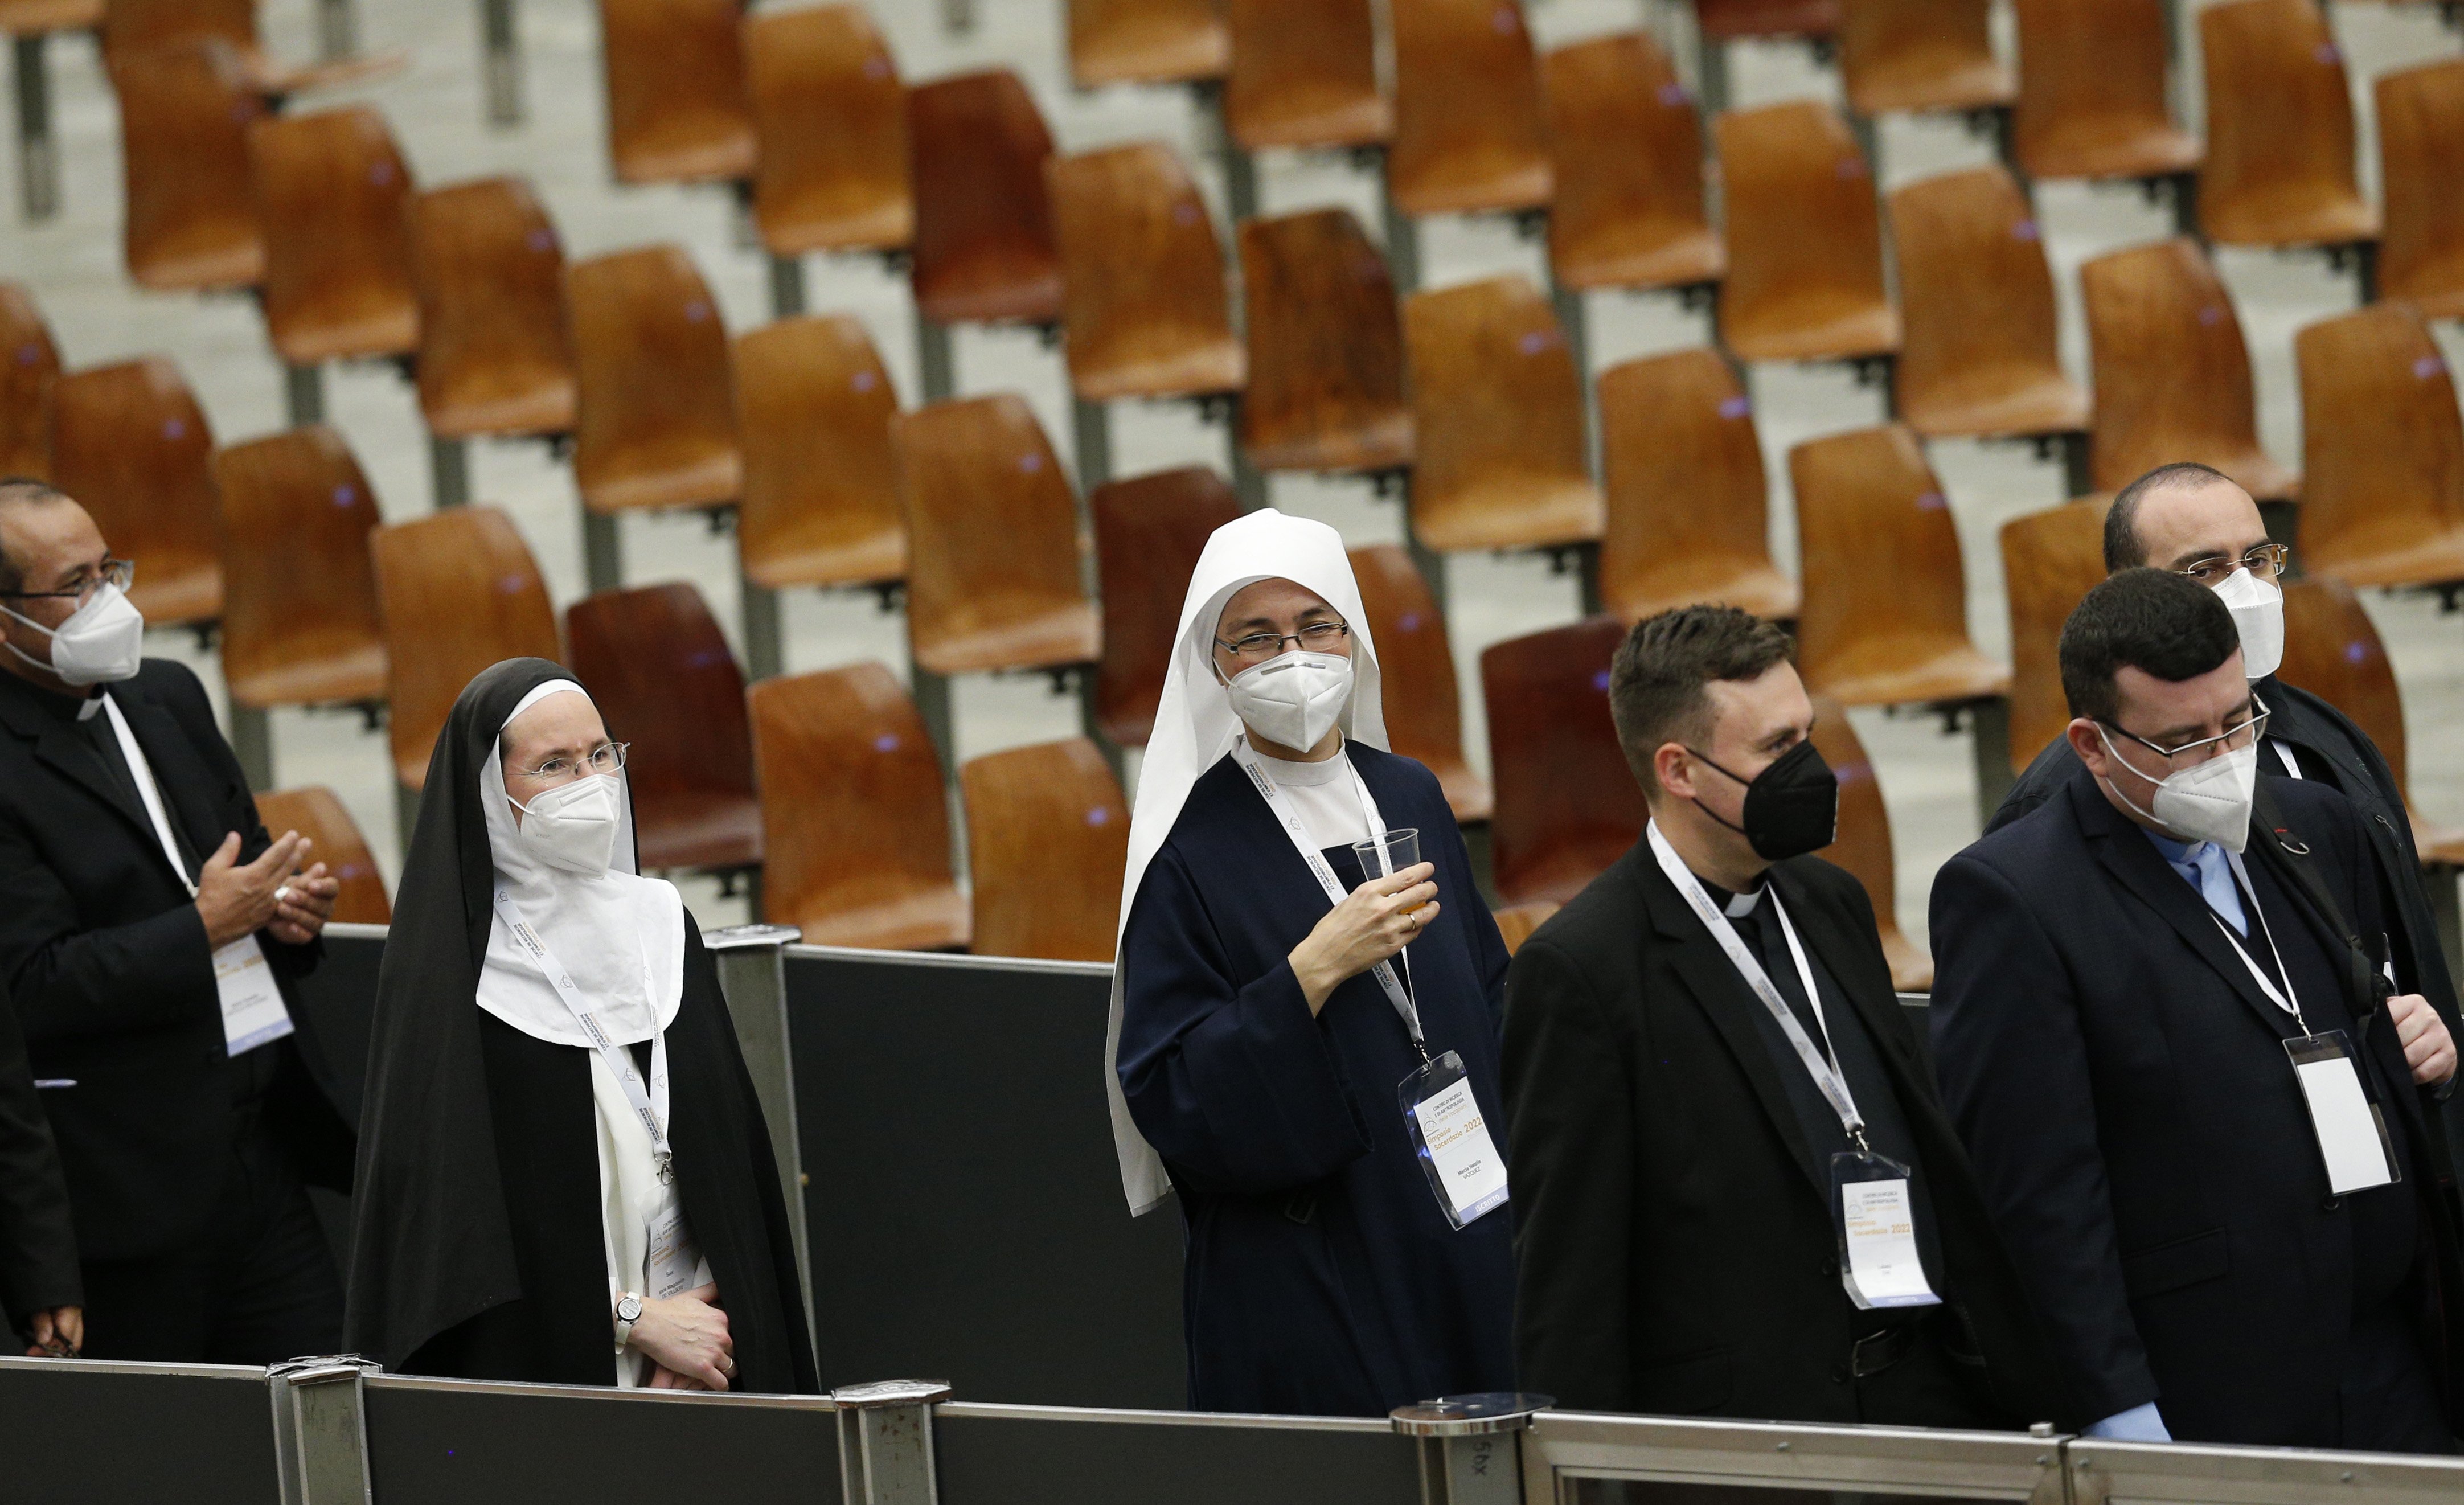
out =
[[[1949,1296],[2013,1424],[2075,1421],[1890,985],[1873,906],[1772,867],[1799,938],[1880,1044],[1932,1190]],[[1850,1305],[1762,1003],[1648,835],[1515,953],[1506,1111],[1523,1387],[1567,1409],[1855,1421]]]

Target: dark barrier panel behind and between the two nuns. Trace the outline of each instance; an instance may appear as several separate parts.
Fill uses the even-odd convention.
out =
[[[823,1387],[1178,1409],[1180,1214],[1131,1219],[1111,968],[791,946]]]

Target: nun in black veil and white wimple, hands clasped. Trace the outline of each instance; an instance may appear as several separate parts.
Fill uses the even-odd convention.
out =
[[[387,1370],[813,1392],[717,968],[636,874],[623,749],[559,665],[471,680],[377,978],[345,1338]]]

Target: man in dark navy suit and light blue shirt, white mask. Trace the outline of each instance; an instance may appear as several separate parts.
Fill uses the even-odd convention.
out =
[[[2092,1436],[2452,1453],[2454,1042],[2245,643],[2166,569],[2070,613],[2072,773],[1934,879],[1942,1096]]]

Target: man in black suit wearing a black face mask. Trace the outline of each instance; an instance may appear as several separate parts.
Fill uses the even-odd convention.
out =
[[[1838,783],[1786,633],[1727,606],[1648,618],[1609,707],[1651,825],[1506,985],[1523,1387],[1587,1411],[2070,1421],[1873,906],[1801,855],[1831,842]],[[1853,1246],[1860,1296],[1843,1158],[1900,1168],[1912,1217],[1905,1259]]]

